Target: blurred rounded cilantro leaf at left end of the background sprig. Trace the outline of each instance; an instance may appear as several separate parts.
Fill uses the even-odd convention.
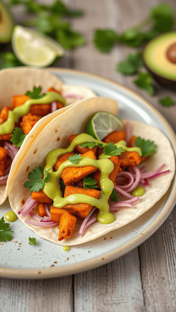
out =
[[[112,29],[96,29],[93,35],[93,42],[102,53],[109,53],[118,39],[119,35]]]

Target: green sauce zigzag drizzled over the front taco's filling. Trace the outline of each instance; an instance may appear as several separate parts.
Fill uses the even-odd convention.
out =
[[[67,149],[54,149],[53,151],[49,152],[49,154],[46,156],[46,166],[44,168],[44,171],[49,168],[53,168],[55,163],[57,162],[57,158],[60,155],[72,152],[75,149],[76,145],[80,145],[85,142],[96,142],[99,144],[103,144],[103,146],[107,144],[100,140],[94,139],[89,134],[85,133],[79,134],[73,139],[73,141],[71,142],[71,144]],[[126,145],[125,141],[120,142],[123,142],[121,143],[123,146]],[[95,160],[88,157],[80,157],[79,163],[74,164],[71,163],[69,160],[67,160],[60,165],[60,167],[56,172],[50,169],[48,177],[46,178],[45,185],[43,187],[43,191],[49,198],[53,199],[54,201],[53,206],[61,208],[67,204],[76,204],[80,202],[89,203],[92,206],[96,206],[99,209],[97,220],[100,223],[109,224],[114,222],[115,216],[111,212],[109,212],[109,204],[108,204],[109,197],[114,188],[114,183],[108,177],[109,174],[114,169],[114,164],[108,158],[101,158]],[[83,167],[83,166],[94,166],[101,171],[100,186],[102,193],[99,199],[84,194],[72,194],[63,198],[59,183],[62,171],[67,167]]]

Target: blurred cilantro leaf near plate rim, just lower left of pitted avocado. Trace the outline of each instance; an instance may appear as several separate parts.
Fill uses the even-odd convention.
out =
[[[134,80],[134,83],[141,89],[148,91],[149,95],[154,94],[154,88],[152,85],[152,76],[149,73],[138,73],[138,78]]]

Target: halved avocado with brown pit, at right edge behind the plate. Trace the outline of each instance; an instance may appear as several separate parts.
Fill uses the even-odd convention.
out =
[[[176,87],[176,31],[164,33],[149,41],[143,61],[151,75],[162,85]]]

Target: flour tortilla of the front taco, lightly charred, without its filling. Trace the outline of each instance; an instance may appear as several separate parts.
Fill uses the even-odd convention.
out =
[[[22,199],[24,198],[26,200],[31,195],[31,192],[23,187],[24,182],[27,180],[28,172],[32,171],[36,166],[44,166],[45,156],[50,150],[59,147],[65,148],[70,134],[84,132],[87,120],[95,112],[100,110],[116,114],[117,109],[115,101],[104,98],[93,98],[77,103],[74,107],[69,108],[65,113],[53,119],[37,136],[19,163],[9,188],[9,202],[13,211],[17,215],[18,211],[21,209],[20,203]],[[104,225],[95,222],[85,230],[82,236],[78,236],[82,219],[77,218],[74,234],[69,239],[64,239],[60,242],[58,241],[58,226],[38,227],[24,223],[25,219],[33,220],[29,216],[22,217],[21,215],[18,215],[19,219],[38,236],[59,245],[71,246],[92,241],[112,230],[123,227],[153,207],[153,205],[167,192],[173,179],[175,173],[174,152],[168,138],[160,130],[148,124],[142,124],[134,120],[129,121],[132,128],[132,134],[137,136],[140,135],[144,139],[154,140],[155,144],[158,146],[157,153],[152,157],[149,157],[145,163],[142,163],[142,166],[146,165],[146,171],[154,170],[163,163],[166,164],[164,170],[170,170],[168,174],[150,180],[150,186],[145,188],[145,194],[140,197],[139,202],[134,204],[134,208],[123,208],[114,213],[116,221],[111,224]],[[127,120],[124,121],[124,123],[126,122]],[[55,131],[57,129],[58,132],[56,133]],[[58,137],[60,137],[59,141],[57,141]],[[35,154],[34,151],[36,151]],[[26,171],[27,168],[28,171]],[[34,213],[37,215],[36,210]]]

